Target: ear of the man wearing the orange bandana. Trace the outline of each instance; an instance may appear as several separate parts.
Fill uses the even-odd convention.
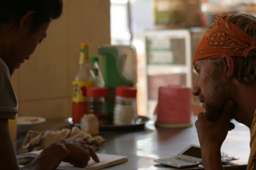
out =
[[[222,62],[224,64],[224,71],[228,79],[232,78],[235,73],[235,63],[234,59],[230,56],[223,56]]]

